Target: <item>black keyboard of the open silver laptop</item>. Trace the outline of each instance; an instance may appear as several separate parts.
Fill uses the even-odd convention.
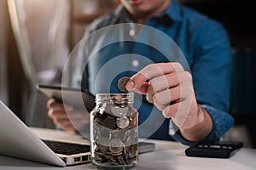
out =
[[[90,152],[90,145],[84,144],[69,144],[58,141],[43,140],[56,154],[73,155],[79,153]]]

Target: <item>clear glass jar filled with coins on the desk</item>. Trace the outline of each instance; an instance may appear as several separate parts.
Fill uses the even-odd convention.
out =
[[[91,162],[97,167],[125,168],[137,164],[138,112],[133,94],[96,94],[90,112]]]

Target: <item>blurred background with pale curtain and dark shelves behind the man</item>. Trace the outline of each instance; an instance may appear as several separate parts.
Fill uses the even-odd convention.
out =
[[[224,139],[256,148],[253,0],[178,1],[218,20],[228,31],[234,59],[230,114],[236,123]],[[1,0],[0,99],[27,125],[54,127],[47,117],[47,98],[35,85],[60,84],[64,61],[86,26],[118,5],[119,0]]]

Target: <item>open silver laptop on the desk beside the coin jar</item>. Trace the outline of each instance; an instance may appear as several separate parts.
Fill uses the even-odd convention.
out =
[[[0,155],[66,167],[90,162],[90,143],[40,139],[0,100]]]

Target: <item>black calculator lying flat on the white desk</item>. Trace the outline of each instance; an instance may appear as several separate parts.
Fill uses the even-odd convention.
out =
[[[207,144],[198,144],[185,150],[186,156],[229,158],[242,147],[242,142],[219,141]]]

